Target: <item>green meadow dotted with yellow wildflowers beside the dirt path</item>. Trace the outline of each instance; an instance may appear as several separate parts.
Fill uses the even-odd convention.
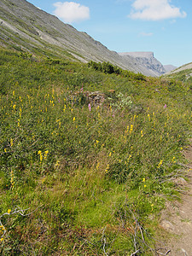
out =
[[[189,84],[3,49],[0,68],[1,254],[153,255]]]

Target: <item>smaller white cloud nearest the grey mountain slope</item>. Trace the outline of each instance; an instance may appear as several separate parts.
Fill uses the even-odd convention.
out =
[[[54,3],[54,14],[67,23],[79,22],[90,18],[90,9],[80,3],[57,2]]]

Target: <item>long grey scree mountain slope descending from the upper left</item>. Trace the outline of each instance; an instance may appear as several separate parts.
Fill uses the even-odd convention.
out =
[[[109,61],[136,73],[157,75],[135,58],[110,51],[85,32],[78,32],[26,0],[1,0],[0,45],[69,60]]]

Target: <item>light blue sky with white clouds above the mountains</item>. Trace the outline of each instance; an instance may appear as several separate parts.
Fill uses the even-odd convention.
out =
[[[163,65],[192,62],[191,0],[27,0],[110,50],[153,51]]]

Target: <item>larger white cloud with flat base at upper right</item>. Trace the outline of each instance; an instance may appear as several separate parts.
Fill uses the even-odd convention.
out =
[[[140,20],[184,18],[186,13],[171,4],[171,0],[135,0],[129,17]]]

